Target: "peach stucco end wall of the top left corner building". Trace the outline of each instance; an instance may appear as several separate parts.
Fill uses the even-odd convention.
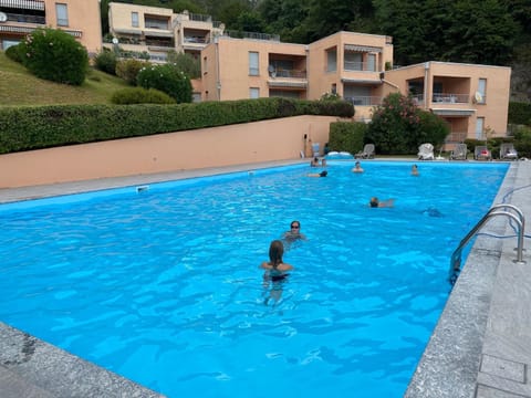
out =
[[[58,27],[58,14],[55,0],[44,0],[46,10],[46,24]],[[102,49],[102,22],[100,17],[98,0],[61,0],[66,4],[69,13],[69,25],[59,27],[65,30],[77,30],[82,32],[80,42],[88,53],[96,53]]]

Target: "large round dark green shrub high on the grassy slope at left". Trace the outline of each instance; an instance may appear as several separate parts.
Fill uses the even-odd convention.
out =
[[[81,85],[88,70],[88,54],[69,33],[38,29],[21,46],[22,63],[35,76],[52,82]]]

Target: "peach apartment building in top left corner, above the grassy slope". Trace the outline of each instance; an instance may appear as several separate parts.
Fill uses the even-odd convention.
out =
[[[102,48],[100,1],[0,0],[0,50],[39,28],[64,30],[94,54]]]

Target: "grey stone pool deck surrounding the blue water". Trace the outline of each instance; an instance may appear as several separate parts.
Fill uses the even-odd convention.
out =
[[[300,161],[0,189],[0,203]],[[511,163],[493,203],[517,206],[529,220],[529,198],[531,161]],[[524,263],[516,263],[517,238],[487,235],[514,235],[506,217],[491,219],[480,232],[486,234],[475,241],[410,380],[407,398],[531,398],[530,251],[523,252]],[[523,247],[529,248],[528,238]],[[150,398],[162,395],[0,322],[0,397]]]

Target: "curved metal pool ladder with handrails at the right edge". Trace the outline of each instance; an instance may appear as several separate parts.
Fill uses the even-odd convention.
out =
[[[499,209],[509,209],[513,210],[516,214],[509,211],[499,211]],[[454,285],[461,272],[461,253],[465,245],[473,238],[473,235],[478,232],[478,230],[483,227],[483,224],[489,221],[491,218],[497,216],[506,216],[509,219],[513,220],[518,226],[518,244],[517,244],[517,260],[514,261],[518,264],[524,264],[523,261],[523,237],[525,230],[525,218],[523,217],[522,211],[512,205],[496,205],[490,208],[489,211],[483,216],[481,220],[473,227],[470,232],[461,240],[459,247],[456,249],[454,254],[451,254],[450,260],[450,272],[448,281],[451,285]]]

